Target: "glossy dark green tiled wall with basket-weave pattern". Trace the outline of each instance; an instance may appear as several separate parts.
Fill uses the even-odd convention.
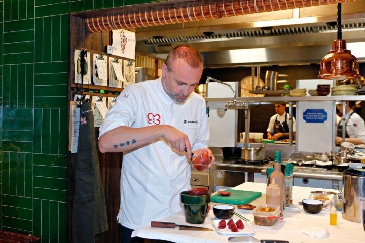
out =
[[[0,0],[0,229],[66,242],[69,13],[157,1]]]

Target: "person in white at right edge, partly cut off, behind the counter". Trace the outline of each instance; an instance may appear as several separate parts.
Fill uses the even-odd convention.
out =
[[[356,101],[346,101],[345,106],[345,123],[342,118],[336,118],[338,121],[336,129],[335,143],[340,144],[342,142],[342,130],[343,124],[346,127],[345,141],[353,144],[364,144],[365,143],[365,121],[362,117],[354,112]],[[342,104],[337,104],[336,108],[342,111]]]

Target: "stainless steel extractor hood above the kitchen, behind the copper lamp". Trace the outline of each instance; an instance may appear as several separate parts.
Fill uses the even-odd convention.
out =
[[[154,37],[137,38],[136,52],[164,59],[171,48],[188,44],[201,52],[204,66],[211,68],[319,63],[336,39],[335,20],[326,17],[316,21],[298,18],[252,22],[225,30],[210,26],[192,34],[160,30],[152,33]],[[365,13],[342,18],[342,37],[358,61],[365,62]]]

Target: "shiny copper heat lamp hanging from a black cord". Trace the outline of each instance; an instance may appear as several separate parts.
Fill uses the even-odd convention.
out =
[[[337,39],[332,42],[332,50],[320,62],[318,78],[344,80],[359,78],[358,61],[350,50],[341,32],[341,3],[337,4]]]

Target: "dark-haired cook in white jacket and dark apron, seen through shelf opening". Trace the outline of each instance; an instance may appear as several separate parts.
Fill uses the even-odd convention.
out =
[[[289,138],[289,114],[286,113],[286,104],[275,104],[276,114],[271,116],[267,128],[267,138],[270,140],[283,140]],[[295,139],[296,121],[293,117],[293,140]]]

